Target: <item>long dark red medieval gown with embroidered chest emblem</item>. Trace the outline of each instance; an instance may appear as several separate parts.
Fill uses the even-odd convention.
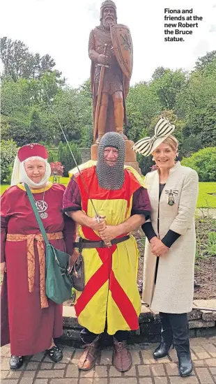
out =
[[[70,255],[73,251],[75,223],[62,213],[65,186],[49,183],[45,187],[47,233],[63,232],[63,239],[50,243]],[[35,200],[43,200],[44,189],[33,190]],[[48,300],[49,307],[41,308],[40,272],[36,240],[33,292],[28,286],[26,240],[7,241],[7,234],[40,234],[24,186],[11,186],[1,197],[1,263],[6,261],[7,272],[1,288],[1,346],[10,343],[12,355],[34,355],[50,347],[52,338],[63,332],[62,305]]]

